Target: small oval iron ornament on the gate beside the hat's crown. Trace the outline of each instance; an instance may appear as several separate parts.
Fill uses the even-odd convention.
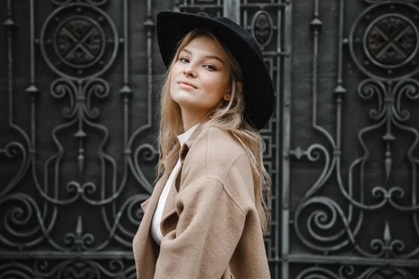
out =
[[[274,34],[272,17],[266,10],[259,10],[251,20],[251,34],[261,47],[269,45]]]

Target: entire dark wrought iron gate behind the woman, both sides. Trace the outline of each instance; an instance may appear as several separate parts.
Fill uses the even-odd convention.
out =
[[[0,7],[0,278],[135,278],[165,9],[226,15],[263,49],[272,278],[419,278],[417,0]]]

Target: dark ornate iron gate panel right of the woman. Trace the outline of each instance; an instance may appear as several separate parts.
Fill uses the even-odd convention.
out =
[[[293,1],[283,278],[419,276],[417,2]]]

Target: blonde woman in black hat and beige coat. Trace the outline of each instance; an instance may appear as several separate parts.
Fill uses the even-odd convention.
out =
[[[270,278],[270,178],[258,130],[274,89],[258,43],[226,17],[161,12],[159,180],[133,240],[138,278]]]

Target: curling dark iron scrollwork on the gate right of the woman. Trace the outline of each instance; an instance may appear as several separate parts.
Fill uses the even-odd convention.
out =
[[[419,133],[416,128],[409,126],[411,113],[403,107],[404,100],[411,103],[419,98],[419,82],[413,78],[419,70],[417,63],[414,63],[418,58],[419,36],[418,29],[413,24],[414,13],[418,13],[418,7],[406,1],[374,2],[376,2],[375,5],[369,6],[355,20],[349,40],[347,40],[353,61],[362,73],[368,76],[360,82],[358,96],[361,100],[376,100],[376,107],[369,111],[369,117],[374,123],[361,128],[358,132],[358,143],[362,155],[355,158],[349,165],[346,183],[342,174],[340,138],[341,103],[343,102],[341,97],[346,89],[340,83],[337,84],[339,90],[335,90],[337,135],[334,137],[316,121],[319,29],[318,25],[314,26],[312,126],[325,137],[332,151],[320,143],[311,144],[307,149],[297,146],[291,150],[291,155],[298,160],[307,157],[310,162],[322,162],[321,173],[309,190],[304,193],[295,209],[295,233],[304,246],[316,252],[322,252],[324,255],[335,255],[349,246],[366,259],[413,259],[419,254],[419,246],[407,246],[403,239],[392,236],[390,220],[385,216],[383,216],[381,237],[372,238],[369,247],[362,246],[358,242],[366,222],[366,214],[382,211],[385,208],[411,216],[413,234],[419,236],[419,204],[416,202],[419,159],[413,154],[419,142]],[[316,5],[318,5],[317,1]],[[318,13],[315,13],[315,17],[313,22],[318,21]],[[362,29],[362,27],[366,28]],[[339,80],[341,81],[341,77],[338,83]],[[397,140],[395,130],[407,133],[413,138],[411,144],[406,146],[406,158],[410,171],[407,190],[406,187],[392,184],[392,173],[395,172],[392,150]],[[366,137],[372,133],[381,133],[384,146],[382,169],[385,186],[366,187],[365,169],[369,160],[372,159]],[[337,201],[337,197],[320,194],[324,188],[328,187],[326,185],[330,185],[333,174],[335,174],[335,182],[332,182],[332,185],[338,190],[339,195],[344,197],[346,207]],[[372,202],[367,202],[367,200]],[[309,274],[316,274],[318,278],[413,278],[404,269],[381,268],[367,269],[358,277],[350,276],[351,272],[343,276],[332,273],[329,269],[313,268],[302,272],[298,278],[311,278]]]

